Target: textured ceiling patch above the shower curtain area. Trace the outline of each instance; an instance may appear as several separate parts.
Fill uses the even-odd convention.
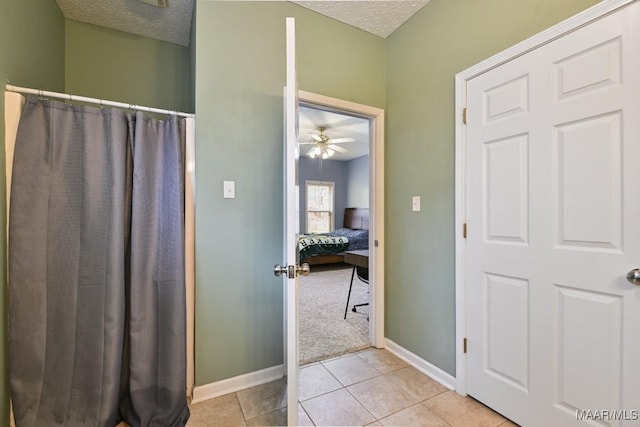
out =
[[[56,0],[66,18],[189,46],[193,0],[157,7],[145,0]]]

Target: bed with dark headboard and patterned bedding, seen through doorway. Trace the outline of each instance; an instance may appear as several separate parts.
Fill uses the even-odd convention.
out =
[[[300,262],[310,265],[344,262],[344,251],[369,248],[369,209],[346,208],[343,228],[298,238]]]

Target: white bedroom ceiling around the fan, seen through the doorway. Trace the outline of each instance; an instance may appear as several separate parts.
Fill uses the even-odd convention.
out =
[[[304,106],[300,106],[298,110],[300,128],[298,141],[313,141],[311,134],[317,135],[318,128],[323,127],[326,128],[324,134],[329,138],[351,137],[355,139],[353,142],[338,144],[347,152],[336,152],[331,160],[346,161],[369,154],[369,120]],[[300,154],[304,156],[312,148],[313,145],[301,145]]]

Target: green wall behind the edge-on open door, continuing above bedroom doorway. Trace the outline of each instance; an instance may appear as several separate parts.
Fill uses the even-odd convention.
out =
[[[299,89],[384,107],[384,40],[289,2],[197,4],[196,383],[282,363],[285,17]],[[222,198],[222,181],[236,198]]]

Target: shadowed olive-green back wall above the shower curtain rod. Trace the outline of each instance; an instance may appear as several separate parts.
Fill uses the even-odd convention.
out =
[[[188,47],[70,19],[65,26],[68,93],[194,111]]]

